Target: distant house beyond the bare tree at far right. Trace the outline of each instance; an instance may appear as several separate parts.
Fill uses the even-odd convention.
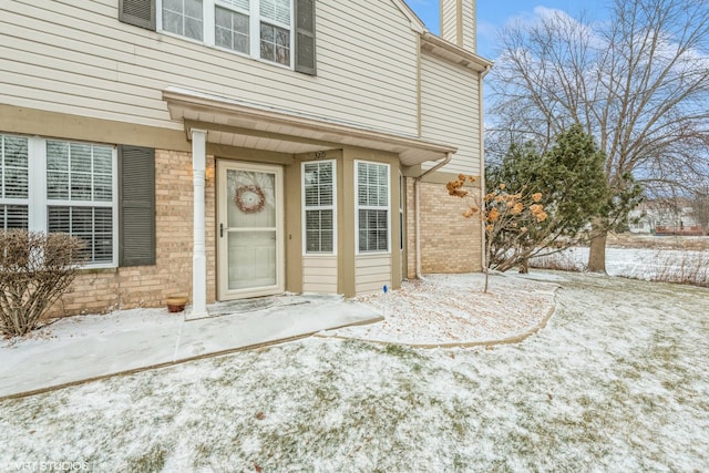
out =
[[[687,198],[658,198],[646,200],[629,213],[630,232],[655,235],[702,235]]]

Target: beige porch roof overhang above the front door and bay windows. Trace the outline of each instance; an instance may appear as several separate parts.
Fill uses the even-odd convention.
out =
[[[399,154],[404,166],[444,158],[458,150],[417,137],[380,132],[291,111],[264,107],[178,88],[163,91],[169,116],[185,130],[207,130],[209,143],[274,151],[312,153],[342,145]],[[189,136],[189,134],[188,134]]]

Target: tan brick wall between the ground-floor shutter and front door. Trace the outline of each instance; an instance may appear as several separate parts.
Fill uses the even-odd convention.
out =
[[[207,302],[216,298],[214,163],[207,156]],[[163,307],[169,295],[186,295],[192,300],[193,195],[191,154],[156,150],[155,266],[83,270],[50,316]]]

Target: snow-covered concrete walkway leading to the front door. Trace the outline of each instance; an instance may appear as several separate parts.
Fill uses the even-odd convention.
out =
[[[340,297],[254,302],[213,305],[213,317],[196,320],[189,320],[188,311],[167,315],[165,309],[62,319],[32,339],[0,345],[0,399],[382,320],[372,309]]]

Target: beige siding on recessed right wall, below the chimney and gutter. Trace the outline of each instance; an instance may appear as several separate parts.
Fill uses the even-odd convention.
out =
[[[480,173],[477,89],[479,76],[474,71],[421,54],[422,137],[458,147],[443,172]]]

